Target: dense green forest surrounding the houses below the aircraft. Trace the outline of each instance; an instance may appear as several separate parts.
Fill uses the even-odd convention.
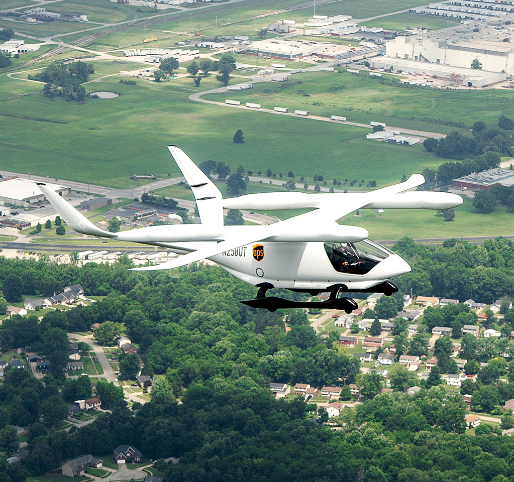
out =
[[[454,239],[427,247],[404,238],[393,249],[413,268],[395,280],[402,292],[412,288],[414,295],[485,303],[512,295],[514,255],[508,239],[478,246]],[[75,283],[86,295],[101,297],[89,306],[52,311],[41,322],[36,316],[5,320],[0,325],[3,352],[27,346],[51,354],[58,367],[65,361],[67,331],[110,321],[138,345],[143,374],[165,375],[153,387],[151,402],[131,409],[117,387],[98,383],[102,406],[112,413],[67,433],[52,430],[53,424],[65,416],[69,402],[90,395],[90,386],[65,381],[58,368],[45,376],[44,385],[30,372],[7,369],[0,386],[0,451],[17,449],[9,423],[32,428],[27,457],[18,464],[0,457],[0,482],[24,482],[85,453],[107,458],[119,444],[132,444],[146,458],[179,457],[177,464],[162,467],[167,480],[177,481],[513,479],[514,440],[496,431],[465,434],[466,406],[437,378],[411,397],[403,393],[411,380],[399,370],[391,378],[395,391],[379,393],[379,377],[360,375],[358,358],[337,343],[338,331],[322,338],[304,311],[270,313],[242,305],[238,300],[251,298],[255,288],[221,268],[200,264],[172,272],[127,271],[130,267],[126,257],[112,265],[84,266],[0,257],[0,282],[9,302]],[[379,309],[387,308],[382,305]],[[434,310],[426,323],[452,326],[469,315],[465,308]],[[514,311],[509,317],[514,320]],[[287,335],[285,323],[291,328]],[[398,353],[402,333],[405,325],[400,324]],[[449,345],[441,340],[436,351],[443,358]],[[477,370],[478,363],[480,370],[479,381],[465,389],[484,410],[514,398],[514,383],[498,382],[501,373],[514,373],[514,366],[510,370],[505,363],[480,374],[480,361],[501,357],[504,340],[463,339],[464,355],[473,362],[467,368]],[[423,350],[423,337],[417,342]],[[403,347],[413,353],[410,349]],[[365,401],[343,411],[337,431],[319,424],[315,405],[298,398],[276,400],[268,388],[269,382],[322,386],[340,378],[359,383]]]

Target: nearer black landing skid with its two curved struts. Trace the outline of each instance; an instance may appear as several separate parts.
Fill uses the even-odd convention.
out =
[[[253,300],[242,301],[241,303],[251,306],[252,308],[265,308],[268,311],[277,311],[279,308],[308,308],[310,306],[316,308],[332,308],[344,310],[346,313],[351,313],[353,310],[358,308],[357,303],[351,298],[338,298],[339,292],[344,285],[333,285],[329,287],[330,296],[328,300],[321,302],[302,302],[302,301],[290,301],[277,298],[276,296],[270,296],[266,298],[266,291],[274,288],[271,283],[263,283],[259,286],[259,291],[256,298]]]

